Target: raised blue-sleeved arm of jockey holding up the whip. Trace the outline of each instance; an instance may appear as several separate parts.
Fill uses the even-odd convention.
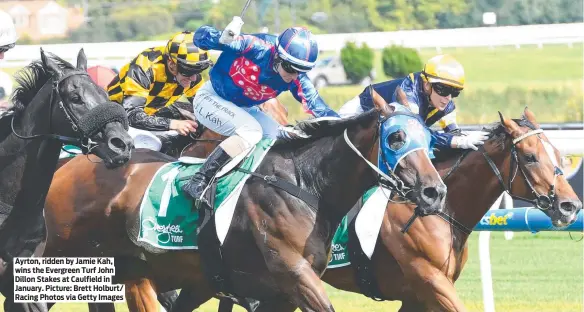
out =
[[[219,42],[222,31],[211,26],[201,26],[195,32],[193,43],[204,50],[231,51],[234,53],[244,52],[251,44],[254,37],[249,35],[239,35],[229,44]]]

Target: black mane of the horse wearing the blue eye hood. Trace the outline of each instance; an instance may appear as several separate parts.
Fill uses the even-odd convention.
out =
[[[359,115],[341,119],[309,119],[299,122],[294,128],[309,135],[307,138],[294,137],[290,139],[278,139],[274,144],[282,147],[297,147],[323,137],[341,134],[345,129],[354,125],[363,125],[379,117],[379,111],[371,109]]]

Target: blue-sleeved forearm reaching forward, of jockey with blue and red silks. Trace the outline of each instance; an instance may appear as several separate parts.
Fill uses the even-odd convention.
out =
[[[292,81],[290,92],[298,102],[302,103],[305,112],[315,117],[340,118],[339,114],[324,102],[306,74],[301,73],[296,80]]]

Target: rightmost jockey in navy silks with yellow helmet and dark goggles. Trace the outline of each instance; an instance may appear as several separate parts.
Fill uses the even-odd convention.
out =
[[[436,147],[471,148],[486,140],[485,133],[454,136],[459,131],[456,124],[456,105],[453,98],[464,89],[465,75],[462,65],[450,55],[438,55],[424,65],[421,72],[373,85],[386,102],[408,106],[419,114],[427,126],[438,123],[444,132],[433,132]],[[367,88],[345,103],[339,110],[342,117],[355,115],[373,108]]]

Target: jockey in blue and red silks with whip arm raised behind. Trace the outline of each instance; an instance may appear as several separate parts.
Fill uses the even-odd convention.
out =
[[[289,134],[257,105],[284,91],[302,103],[315,117],[336,117],[306,76],[316,63],[318,45],[303,27],[286,29],[279,36],[239,35],[243,21],[233,18],[225,30],[203,26],[195,32],[194,44],[221,55],[206,82],[193,99],[197,122],[228,136],[209,155],[201,170],[183,190],[198,200],[217,171],[237,155],[247,153],[262,137]]]

